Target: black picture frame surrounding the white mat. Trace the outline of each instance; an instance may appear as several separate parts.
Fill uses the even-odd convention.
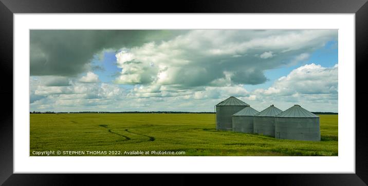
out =
[[[231,180],[257,180],[281,185],[366,185],[368,183],[368,138],[364,112],[368,101],[365,70],[368,49],[368,3],[366,0],[216,0],[216,1],[55,1],[0,0],[0,88],[4,110],[0,117],[0,183],[4,185],[84,185],[126,184],[132,180],[144,183],[171,183],[168,175],[155,174],[13,174],[13,14],[14,13],[355,13],[356,36],[356,173],[355,174],[236,174],[217,175],[172,174],[175,184],[216,183]],[[26,63],[26,62],[25,62]],[[339,74],[343,75],[343,74]],[[12,97],[12,99],[10,99]],[[354,123],[351,123],[354,125]],[[223,178],[223,179],[220,179]]]

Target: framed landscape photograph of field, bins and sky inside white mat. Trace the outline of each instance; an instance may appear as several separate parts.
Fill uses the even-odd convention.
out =
[[[29,156],[339,156],[338,33],[30,29]]]

